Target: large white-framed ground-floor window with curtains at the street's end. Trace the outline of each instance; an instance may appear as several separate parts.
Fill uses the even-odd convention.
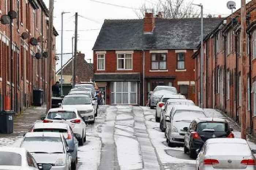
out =
[[[114,87],[112,87],[112,83],[114,83]],[[112,105],[138,105],[138,83],[135,82],[136,83],[135,92],[131,92],[131,82],[128,82],[128,92],[123,92],[123,82],[122,82],[122,92],[116,92],[116,83],[117,82],[111,82],[111,89],[114,88],[113,92],[111,90],[111,98],[110,98],[111,104]],[[116,93],[121,93],[122,94],[121,103],[116,103]],[[123,93],[128,93],[128,103],[123,103]],[[131,93],[136,93],[136,103],[131,103],[130,102]],[[112,95],[114,95],[114,103],[112,103]]]

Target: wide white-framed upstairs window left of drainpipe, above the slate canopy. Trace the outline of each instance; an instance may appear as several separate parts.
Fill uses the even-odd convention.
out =
[[[117,69],[131,70],[132,69],[132,54],[117,54]]]

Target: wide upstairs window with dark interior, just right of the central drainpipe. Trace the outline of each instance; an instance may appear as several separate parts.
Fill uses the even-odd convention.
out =
[[[166,70],[166,53],[151,54],[151,69]]]

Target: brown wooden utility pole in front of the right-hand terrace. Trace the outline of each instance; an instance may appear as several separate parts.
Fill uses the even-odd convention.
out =
[[[241,0],[241,34],[242,45],[242,112],[241,112],[241,138],[246,139],[246,6]]]

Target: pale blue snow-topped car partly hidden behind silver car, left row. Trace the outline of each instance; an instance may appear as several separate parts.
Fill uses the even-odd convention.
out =
[[[76,138],[80,139],[81,135],[76,133],[74,134],[72,128],[65,123],[35,123],[32,132],[59,132],[62,133],[67,140],[68,148],[74,150],[72,155],[72,169],[76,169],[77,163],[77,150],[78,150],[78,141]]]

